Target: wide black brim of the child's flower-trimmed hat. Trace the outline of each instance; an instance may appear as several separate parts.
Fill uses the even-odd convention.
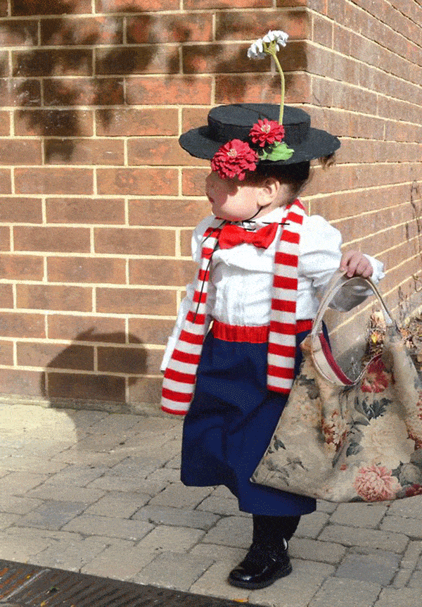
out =
[[[311,161],[314,158],[323,158],[333,154],[340,147],[340,139],[334,135],[320,129],[309,127],[307,138],[300,144],[296,144],[293,149],[293,156],[283,161],[263,161],[271,164],[294,164],[304,161]],[[205,158],[211,160],[214,154],[222,146],[222,142],[215,142],[208,136],[208,127],[198,127],[191,129],[179,137],[179,144],[191,156],[195,158]]]

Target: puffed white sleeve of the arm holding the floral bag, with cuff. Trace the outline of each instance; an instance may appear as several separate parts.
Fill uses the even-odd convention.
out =
[[[298,273],[312,282],[312,288],[318,298],[335,270],[340,267],[342,240],[340,232],[320,215],[305,216],[300,237]],[[372,265],[371,279],[377,284],[384,277],[383,263],[369,255],[365,257]],[[371,294],[365,284],[354,280],[340,289],[330,307],[338,311],[348,311]]]

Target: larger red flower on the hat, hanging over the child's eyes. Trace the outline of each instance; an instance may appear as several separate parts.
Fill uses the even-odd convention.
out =
[[[222,179],[237,177],[239,181],[245,179],[246,171],[255,170],[259,158],[250,145],[240,139],[232,139],[214,154],[211,168]]]

